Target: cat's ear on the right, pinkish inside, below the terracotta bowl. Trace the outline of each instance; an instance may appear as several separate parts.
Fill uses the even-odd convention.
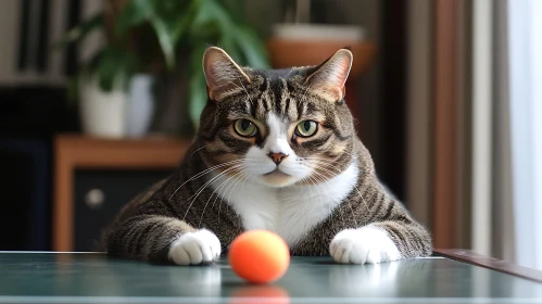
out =
[[[352,67],[353,55],[346,49],[338,50],[332,56],[322,63],[315,72],[305,79],[305,86],[322,98],[337,102],[346,93],[344,84]]]

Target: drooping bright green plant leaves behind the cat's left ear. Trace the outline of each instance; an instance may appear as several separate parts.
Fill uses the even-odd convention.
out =
[[[269,67],[264,40],[248,25],[244,1],[217,0],[131,0],[116,16],[117,30],[150,28],[162,53],[162,73],[182,79],[192,126],[199,124],[206,97],[201,66],[210,46],[224,48],[236,61],[254,68]],[[160,64],[157,64],[160,65]],[[178,81],[174,81],[178,86]]]

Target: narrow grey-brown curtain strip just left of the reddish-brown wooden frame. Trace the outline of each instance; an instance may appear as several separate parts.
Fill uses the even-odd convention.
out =
[[[432,1],[408,5],[406,201],[426,227],[431,220]]]

